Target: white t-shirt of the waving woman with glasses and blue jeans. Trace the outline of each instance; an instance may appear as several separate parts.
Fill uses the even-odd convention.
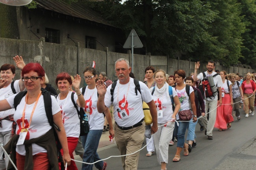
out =
[[[80,89],[82,93],[82,88]],[[85,112],[89,112],[88,119],[90,130],[103,130],[104,127],[104,115],[103,113],[99,113],[97,109],[98,102],[98,91],[96,87],[94,89],[89,89],[88,87],[85,89],[83,94],[83,98],[85,100],[85,107],[83,110]]]

